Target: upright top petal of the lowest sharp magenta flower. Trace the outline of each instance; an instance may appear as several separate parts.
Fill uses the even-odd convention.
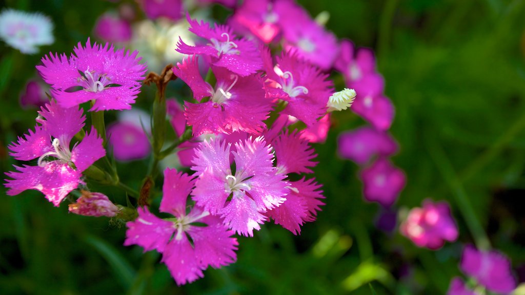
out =
[[[171,213],[175,217],[186,215],[186,200],[194,185],[193,176],[166,168],[162,186],[161,212]]]

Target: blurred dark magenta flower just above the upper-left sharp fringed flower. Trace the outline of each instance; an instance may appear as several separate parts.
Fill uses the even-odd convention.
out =
[[[127,20],[112,13],[104,13],[95,24],[95,34],[111,43],[128,42],[133,31]]]

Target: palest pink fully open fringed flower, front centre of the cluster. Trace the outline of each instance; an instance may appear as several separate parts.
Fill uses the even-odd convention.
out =
[[[224,217],[238,234],[253,236],[266,220],[263,214],[285,201],[285,175],[272,165],[271,146],[262,137],[235,143],[233,175],[230,146],[218,140],[199,145],[192,167],[197,176],[192,196],[197,206]]]

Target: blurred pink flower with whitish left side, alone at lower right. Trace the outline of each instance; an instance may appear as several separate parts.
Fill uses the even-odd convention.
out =
[[[458,229],[447,202],[423,201],[423,208],[413,208],[400,226],[401,234],[418,247],[435,250],[445,241],[455,241]]]

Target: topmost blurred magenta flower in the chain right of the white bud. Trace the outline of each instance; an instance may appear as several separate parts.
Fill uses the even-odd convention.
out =
[[[341,41],[339,58],[334,68],[343,73],[346,85],[356,85],[363,77],[376,73],[374,52],[370,48],[359,48],[350,40]]]

